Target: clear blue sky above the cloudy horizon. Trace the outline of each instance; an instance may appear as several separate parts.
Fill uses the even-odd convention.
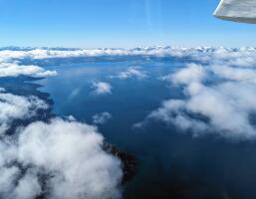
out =
[[[219,0],[0,0],[0,46],[256,46],[256,26],[215,19]]]

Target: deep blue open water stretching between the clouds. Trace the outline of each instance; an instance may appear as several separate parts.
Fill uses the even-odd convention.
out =
[[[47,68],[59,75],[38,83],[43,86],[40,91],[54,100],[57,115],[92,123],[96,113],[112,113],[99,130],[108,142],[138,160],[136,175],[124,187],[125,198],[256,198],[256,144],[212,136],[193,138],[153,121],[132,128],[163,100],[182,98],[180,88],[159,78],[184,67],[184,62],[139,57],[52,61]],[[129,67],[139,67],[148,77],[113,78]],[[110,83],[112,94],[92,94],[92,82]]]

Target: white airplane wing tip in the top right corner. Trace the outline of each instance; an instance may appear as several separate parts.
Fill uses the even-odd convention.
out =
[[[221,0],[214,16],[229,21],[256,24],[256,0]]]

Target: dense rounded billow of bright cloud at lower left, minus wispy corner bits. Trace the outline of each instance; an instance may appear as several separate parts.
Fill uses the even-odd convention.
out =
[[[51,198],[117,198],[121,162],[102,149],[103,141],[85,123],[59,118],[36,122],[21,133],[18,159],[53,176]]]

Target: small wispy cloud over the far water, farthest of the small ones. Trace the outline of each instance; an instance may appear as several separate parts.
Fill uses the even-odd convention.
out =
[[[137,78],[143,79],[146,78],[147,75],[144,71],[140,71],[138,67],[129,67],[127,71],[121,72],[117,78],[121,80],[127,80],[129,78]]]

